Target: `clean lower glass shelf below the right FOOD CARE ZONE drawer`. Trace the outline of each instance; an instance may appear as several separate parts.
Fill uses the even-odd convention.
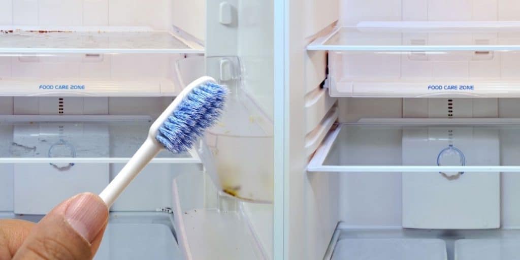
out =
[[[519,134],[518,119],[362,119],[333,127],[307,171],[520,172]]]

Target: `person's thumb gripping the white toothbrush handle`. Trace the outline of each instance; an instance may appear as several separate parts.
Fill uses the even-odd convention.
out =
[[[76,195],[33,227],[13,259],[92,259],[107,221],[108,207],[101,198]]]

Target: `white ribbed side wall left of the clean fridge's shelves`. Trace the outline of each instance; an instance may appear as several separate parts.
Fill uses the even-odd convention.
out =
[[[284,259],[323,258],[338,222],[339,176],[305,171],[306,137],[335,102],[320,89],[326,54],[306,46],[337,21],[338,7],[337,0],[285,1]]]

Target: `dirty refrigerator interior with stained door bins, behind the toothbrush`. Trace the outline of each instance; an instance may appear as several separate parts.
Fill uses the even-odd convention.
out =
[[[95,259],[272,258],[272,1],[0,5],[2,218],[99,193],[207,74],[231,89],[223,122],[152,160],[112,206]]]

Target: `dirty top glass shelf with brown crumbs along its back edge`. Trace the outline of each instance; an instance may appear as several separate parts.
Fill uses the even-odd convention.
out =
[[[180,53],[204,48],[170,32],[146,27],[0,28],[0,53]]]

